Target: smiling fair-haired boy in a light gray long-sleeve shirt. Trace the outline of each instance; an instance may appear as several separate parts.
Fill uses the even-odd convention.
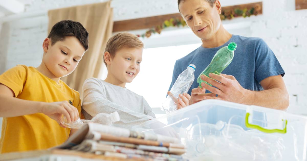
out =
[[[125,88],[140,71],[144,44],[137,36],[123,32],[112,36],[106,46],[104,63],[108,74],[105,80],[90,78],[83,85],[83,114],[86,119],[98,113],[119,113],[114,126],[131,128],[155,118],[146,100]],[[177,108],[188,106],[188,94],[179,96]]]

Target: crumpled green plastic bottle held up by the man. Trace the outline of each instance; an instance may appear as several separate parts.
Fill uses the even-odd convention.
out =
[[[209,77],[209,73],[220,74],[232,61],[233,56],[235,55],[235,49],[237,48],[237,44],[235,42],[229,43],[227,46],[220,48],[213,56],[211,63],[206,67],[206,69],[200,73],[197,78],[199,83],[199,87],[202,88],[200,83],[205,82],[208,85],[212,86],[210,83],[203,81],[200,76],[206,75]]]

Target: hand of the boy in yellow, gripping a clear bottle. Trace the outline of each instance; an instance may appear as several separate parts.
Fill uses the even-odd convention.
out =
[[[41,113],[57,121],[62,127],[64,127],[61,124],[62,115],[66,117],[68,123],[74,122],[79,118],[78,109],[67,101],[44,103]]]

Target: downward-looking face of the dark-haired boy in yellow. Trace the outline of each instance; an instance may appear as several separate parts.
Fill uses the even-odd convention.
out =
[[[68,36],[64,41],[57,41],[51,46],[50,39],[46,39],[43,45],[48,45],[48,48],[44,48],[43,61],[47,69],[56,77],[72,73],[85,52],[80,41],[74,36]]]

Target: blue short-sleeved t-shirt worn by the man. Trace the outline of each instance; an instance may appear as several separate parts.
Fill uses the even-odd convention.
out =
[[[261,38],[232,35],[230,40],[222,46],[216,48],[200,46],[187,56],[178,59],[174,66],[173,80],[169,90],[172,88],[178,75],[192,63],[196,66],[196,70],[194,72],[194,82],[188,90],[188,94],[191,95],[192,89],[199,86],[196,82],[197,77],[210,64],[216,52],[220,48],[227,46],[231,41],[234,41],[238,47],[235,50],[232,62],[222,73],[233,75],[243,88],[254,91],[263,90],[259,83],[260,81],[270,76],[285,75],[285,71],[282,69],[273,51]],[[210,93],[210,91],[207,90],[206,93]]]

